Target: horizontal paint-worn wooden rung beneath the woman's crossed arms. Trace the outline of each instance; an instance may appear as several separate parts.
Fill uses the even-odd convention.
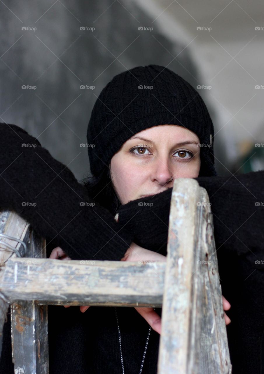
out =
[[[161,262],[12,258],[0,289],[12,301],[38,304],[161,307],[165,267]]]

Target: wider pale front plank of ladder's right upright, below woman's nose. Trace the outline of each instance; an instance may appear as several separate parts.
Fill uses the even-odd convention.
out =
[[[199,198],[199,185],[196,183],[174,182],[162,304],[162,315],[165,318],[162,319],[159,341],[158,374],[187,374],[189,365],[194,369],[192,373],[198,374],[193,364],[194,352],[190,349],[197,343],[195,335],[190,335],[192,313],[196,312],[197,301],[197,293],[192,294],[194,260],[199,252],[198,238],[195,236],[196,196]]]

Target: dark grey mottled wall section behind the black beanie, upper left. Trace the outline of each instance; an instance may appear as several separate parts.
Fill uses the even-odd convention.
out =
[[[87,148],[80,144],[86,143],[93,104],[114,75],[158,64],[194,87],[202,84],[185,41],[168,36],[138,3],[9,0],[6,6],[0,3],[0,12],[0,121],[27,130],[78,180],[89,171]],[[153,31],[139,31],[139,26]],[[205,102],[206,94],[201,92]],[[214,120],[214,110],[206,104]],[[220,148],[216,145],[215,151],[224,162]]]

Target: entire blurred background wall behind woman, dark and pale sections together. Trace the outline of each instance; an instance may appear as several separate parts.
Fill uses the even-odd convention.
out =
[[[263,8],[260,0],[1,1],[0,122],[24,128],[81,180],[89,164],[80,145],[100,91],[124,70],[158,64],[204,99],[219,174],[264,169]]]

